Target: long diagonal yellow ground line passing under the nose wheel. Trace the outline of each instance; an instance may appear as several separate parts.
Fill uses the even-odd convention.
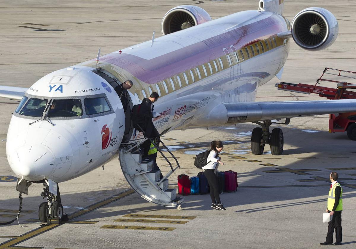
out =
[[[87,210],[80,210],[80,211],[78,211],[76,213],[71,214],[69,216],[69,219],[76,218],[76,217],[78,217],[78,216],[80,216],[82,214],[85,214],[85,213],[88,213],[88,212],[94,210],[95,208],[102,207],[102,206],[104,206],[106,204],[109,204],[110,202],[116,201],[116,200],[118,200],[118,199],[120,199],[122,197],[125,197],[127,195],[130,195],[130,194],[132,194],[134,192],[135,192],[134,190],[128,190],[128,191],[126,191],[126,192],[124,192],[122,194],[111,196],[111,197],[109,197],[109,198],[107,198],[107,199],[105,199],[103,201],[100,201],[98,203],[95,203],[94,205],[89,206]],[[26,239],[30,239],[32,237],[35,237],[35,236],[37,236],[37,235],[39,235],[41,233],[47,232],[48,230],[51,230],[51,229],[53,229],[55,227],[61,226],[62,224],[51,224],[51,225],[48,225],[48,226],[39,227],[39,228],[29,232],[29,233],[25,233],[23,235],[20,235],[18,238],[14,238],[14,239],[9,240],[8,242],[0,244],[0,249],[7,248],[7,247],[10,247],[10,246],[19,244],[19,243],[23,242]],[[20,248],[20,247],[16,247],[16,248]],[[42,247],[38,247],[38,248],[42,248]]]

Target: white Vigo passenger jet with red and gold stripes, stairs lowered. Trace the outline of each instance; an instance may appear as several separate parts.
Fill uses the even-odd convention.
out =
[[[18,176],[16,189],[27,194],[43,184],[47,197],[41,222],[64,218],[59,182],[88,173],[119,155],[131,187],[147,201],[177,207],[184,198],[168,189],[152,161],[137,147],[146,138],[131,123],[131,109],[152,92],[159,95],[153,119],[161,135],[174,129],[230,126],[253,122],[253,154],[266,144],[283,152],[283,132],[273,120],[356,111],[355,100],[255,102],[257,88],[281,78],[291,38],[308,51],[329,47],[338,34],[330,11],[310,7],[292,23],[283,16],[284,0],[260,0],[257,10],[212,20],[195,5],[164,15],[163,36],[49,73],[30,88],[0,86],[0,97],[20,100],[7,132],[6,156]],[[130,79],[130,104],[124,111],[114,88]],[[161,152],[161,150],[159,150]],[[168,150],[169,152],[169,150]],[[173,154],[172,157],[174,158]],[[104,168],[104,166],[103,166]]]

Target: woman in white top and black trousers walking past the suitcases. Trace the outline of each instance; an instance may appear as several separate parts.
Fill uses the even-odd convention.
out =
[[[211,151],[208,155],[208,159],[206,159],[207,164],[202,169],[204,169],[204,175],[210,186],[211,207],[216,210],[226,210],[220,201],[218,178],[216,177],[218,164],[224,165],[219,157],[219,153],[223,150],[224,145],[221,141],[213,141],[210,143],[210,147]]]

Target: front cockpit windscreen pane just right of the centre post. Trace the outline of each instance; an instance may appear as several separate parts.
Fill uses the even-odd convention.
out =
[[[82,116],[82,103],[79,99],[53,100],[48,112],[49,118]]]

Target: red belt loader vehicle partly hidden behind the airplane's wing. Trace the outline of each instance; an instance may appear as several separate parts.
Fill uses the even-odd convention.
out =
[[[325,79],[328,75],[330,79]],[[329,76],[330,75],[330,76]],[[347,81],[338,81],[336,79],[355,80],[356,72],[345,71],[334,68],[325,68],[323,74],[318,80],[316,80],[315,85],[307,84],[293,84],[281,82],[276,84],[278,90],[300,92],[303,94],[318,94],[320,97],[325,97],[330,100],[335,99],[356,99],[356,84],[348,83]],[[325,86],[319,86],[322,81],[328,81],[337,83],[337,87],[330,88]],[[350,89],[350,90],[346,90]],[[335,115],[336,114],[336,115]],[[329,118],[329,133],[331,132],[347,132],[347,136],[351,140],[356,140],[356,112],[346,112],[346,113],[335,113],[330,114]]]

